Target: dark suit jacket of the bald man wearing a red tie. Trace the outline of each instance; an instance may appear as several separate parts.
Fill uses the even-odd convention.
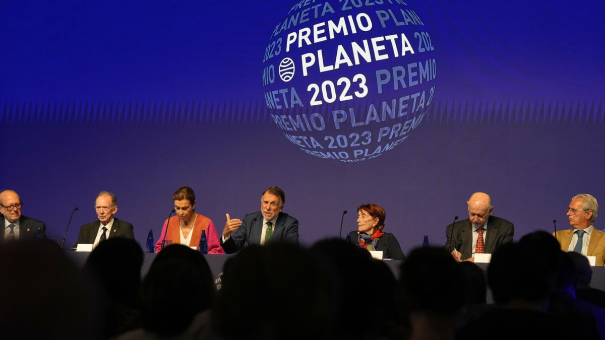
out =
[[[462,260],[466,260],[473,255],[473,223],[468,218],[460,222],[456,222],[456,226],[452,232],[453,224],[445,228],[445,237],[447,242],[443,249],[450,249],[450,252],[458,250],[462,253]],[[494,250],[502,244],[512,241],[515,234],[515,226],[505,220],[495,216],[488,217],[487,234],[483,240],[483,252],[493,253]]]

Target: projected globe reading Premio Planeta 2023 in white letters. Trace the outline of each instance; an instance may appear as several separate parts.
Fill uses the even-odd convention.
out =
[[[375,159],[422,126],[435,93],[435,54],[408,1],[301,1],[270,34],[264,104],[301,152]]]

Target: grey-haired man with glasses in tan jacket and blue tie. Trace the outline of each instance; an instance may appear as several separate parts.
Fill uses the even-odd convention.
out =
[[[594,256],[597,266],[605,265],[605,233],[594,227],[599,204],[589,194],[575,195],[565,213],[573,229],[557,232],[557,241],[564,252],[577,252]],[[553,234],[554,235],[554,234]]]

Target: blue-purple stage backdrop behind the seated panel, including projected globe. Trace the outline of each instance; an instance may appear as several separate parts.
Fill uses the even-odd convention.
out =
[[[286,191],[301,242],[385,208],[404,252],[475,191],[515,239],[605,202],[605,3],[5,1],[0,188],[67,244],[96,194],[143,243],[191,186],[225,214]],[[597,218],[595,224],[605,224]]]

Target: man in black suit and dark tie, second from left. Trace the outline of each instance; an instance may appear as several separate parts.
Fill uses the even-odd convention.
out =
[[[93,248],[111,237],[127,237],[134,240],[134,228],[131,223],[114,218],[117,212],[117,198],[111,192],[101,191],[94,203],[99,220],[80,227],[77,243],[93,244]],[[76,246],[77,246],[76,243]]]

